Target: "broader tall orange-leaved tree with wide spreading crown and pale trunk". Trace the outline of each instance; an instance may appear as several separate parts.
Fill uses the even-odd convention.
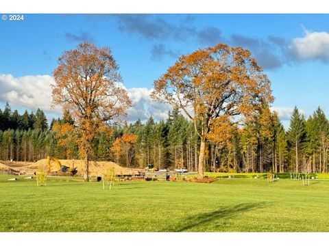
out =
[[[198,178],[204,177],[204,153],[212,126],[236,115],[252,115],[273,100],[271,83],[241,47],[217,44],[182,55],[154,81],[152,97],[178,107],[193,120],[200,137]]]

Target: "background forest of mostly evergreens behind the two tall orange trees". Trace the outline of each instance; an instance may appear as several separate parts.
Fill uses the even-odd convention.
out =
[[[19,115],[6,105],[0,112],[3,161],[37,161],[48,155],[80,159],[77,133],[72,131],[76,126],[68,111],[53,119],[51,128],[40,109],[35,115],[27,111]],[[208,139],[206,172],[328,172],[329,121],[320,107],[307,120],[295,107],[286,131],[277,113],[263,105],[242,126],[222,123]],[[199,146],[193,122],[176,108],[167,120],[156,122],[150,117],[144,123],[137,120],[97,133],[92,159],[125,167],[152,164],[197,172]]]

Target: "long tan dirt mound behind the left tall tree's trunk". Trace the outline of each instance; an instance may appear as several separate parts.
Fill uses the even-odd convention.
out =
[[[77,167],[77,175],[83,176],[84,175],[84,160],[60,160],[62,165],[66,165],[67,167]],[[38,169],[43,167],[48,169],[47,159],[42,159],[33,163],[31,165],[27,165],[25,168],[27,169]],[[101,176],[106,170],[110,167],[114,167],[115,174],[118,175],[133,175],[138,174],[138,172],[134,171],[133,169],[128,169],[125,167],[121,167],[112,161],[89,161],[89,175],[90,176]],[[51,163],[51,172],[57,172],[58,167],[56,163]]]

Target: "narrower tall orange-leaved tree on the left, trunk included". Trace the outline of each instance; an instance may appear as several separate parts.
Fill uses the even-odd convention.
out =
[[[120,84],[119,66],[109,47],[84,42],[62,53],[53,77],[53,104],[68,110],[77,124],[77,143],[85,159],[84,180],[88,181],[95,136],[106,130],[107,123],[124,116],[131,105]]]

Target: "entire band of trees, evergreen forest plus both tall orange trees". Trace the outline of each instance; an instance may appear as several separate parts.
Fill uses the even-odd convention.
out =
[[[19,115],[6,105],[3,159],[84,159],[85,181],[93,160],[186,167],[198,178],[204,171],[327,172],[324,112],[319,108],[306,120],[295,108],[285,131],[270,110],[271,82],[242,47],[217,44],[180,56],[154,81],[151,98],[173,107],[160,122],[122,125],[131,102],[108,46],[83,42],[64,51],[53,77],[53,104],[62,107],[63,118],[48,129],[40,109]]]

